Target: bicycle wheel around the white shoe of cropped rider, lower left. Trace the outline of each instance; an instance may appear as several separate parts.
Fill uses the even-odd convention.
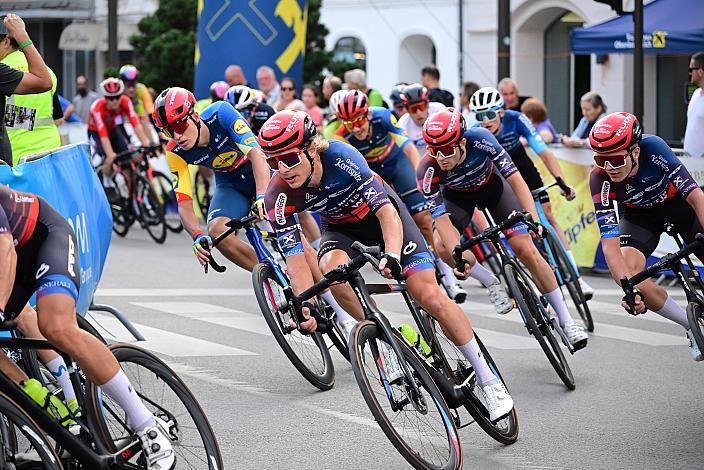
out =
[[[176,454],[178,468],[207,468],[210,470],[220,470],[224,468],[220,449],[218,447],[215,434],[210,426],[208,418],[205,416],[200,404],[188,389],[186,384],[166,363],[161,359],[137,346],[130,344],[114,344],[109,346],[120,367],[129,377],[130,383],[140,396],[145,406],[169,425],[169,437]],[[141,371],[146,369],[146,371]],[[137,371],[135,373],[135,370]],[[155,395],[147,395],[144,384],[148,380],[161,380],[164,390],[156,392]],[[148,384],[151,385],[151,384]],[[174,407],[165,402],[166,389],[170,389],[183,409],[174,410]],[[126,425],[126,416],[114,402],[99,391],[99,387],[89,383],[89,391],[86,394],[88,406],[98,419],[95,426],[97,438],[106,446],[110,452],[117,452],[118,443],[121,448],[130,440],[139,440],[134,432]],[[174,403],[175,406],[175,403]],[[168,407],[168,409],[167,409]],[[186,422],[186,416],[191,422]],[[112,418],[112,419],[110,419]],[[197,436],[196,436],[197,434]],[[193,444],[185,444],[186,438],[190,438]],[[199,441],[199,442],[198,442]],[[190,442],[190,441],[189,441]],[[192,465],[186,461],[185,456],[194,457],[198,460],[197,465]],[[132,456],[125,456],[129,461],[143,462],[141,452]]]

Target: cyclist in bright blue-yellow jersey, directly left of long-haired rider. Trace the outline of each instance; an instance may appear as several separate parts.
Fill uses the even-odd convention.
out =
[[[193,237],[193,251],[205,265],[208,252],[201,241],[212,243],[227,230],[231,218],[249,213],[254,201],[264,217],[264,192],[269,184],[269,169],[257,138],[240,113],[226,101],[195,112],[196,99],[185,88],[162,91],[154,103],[154,125],[170,140],[166,159],[174,175],[178,213],[186,231]],[[208,234],[200,230],[193,210],[193,190],[188,165],[204,166],[215,172],[215,193],[208,210]],[[257,264],[252,247],[237,237],[227,237],[218,250],[233,263],[251,271]]]

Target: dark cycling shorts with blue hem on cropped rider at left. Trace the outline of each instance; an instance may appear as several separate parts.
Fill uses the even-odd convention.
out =
[[[17,249],[15,284],[5,306],[5,317],[14,318],[32,295],[65,294],[78,299],[80,286],[78,245],[73,229],[44,199],[32,237]]]

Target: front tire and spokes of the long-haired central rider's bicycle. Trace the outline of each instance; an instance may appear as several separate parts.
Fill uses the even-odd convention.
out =
[[[462,468],[462,449],[460,445],[459,436],[457,434],[457,429],[455,423],[451,417],[449,408],[445,403],[445,399],[440,393],[437,385],[433,382],[429,372],[425,369],[423,361],[419,356],[408,346],[408,343],[403,341],[400,335],[394,333],[397,336],[397,343],[403,351],[404,358],[413,371],[413,376],[415,382],[419,387],[423,389],[425,395],[430,399],[427,400],[423,397],[422,402],[418,406],[425,406],[425,414],[423,416],[428,417],[428,420],[424,421],[422,424],[422,430],[403,432],[403,430],[397,430],[396,426],[401,426],[405,423],[410,423],[413,418],[408,418],[405,413],[403,417],[400,416],[389,416],[389,411],[393,410],[383,409],[382,403],[389,406],[390,403],[387,396],[387,391],[384,385],[382,385],[381,373],[377,367],[377,360],[381,360],[378,356],[378,346],[377,340],[379,339],[380,330],[375,323],[371,321],[362,321],[358,323],[351,335],[350,341],[350,358],[352,363],[352,370],[354,371],[355,379],[359,385],[359,389],[362,392],[364,401],[367,403],[369,410],[372,412],[377,424],[384,432],[389,441],[393,444],[396,450],[410,463],[414,468],[418,469],[459,469]],[[371,341],[371,343],[370,343]],[[372,347],[374,344],[374,347]],[[374,353],[374,348],[377,348],[377,353]],[[366,351],[368,349],[368,351]],[[369,354],[371,353],[371,354]],[[372,373],[372,378],[368,376],[368,372]],[[386,379],[384,379],[386,381]],[[382,385],[382,386],[379,386]],[[393,388],[392,388],[393,387]],[[392,396],[399,398],[404,398],[409,400],[405,405],[403,405],[398,411],[399,415],[401,412],[405,411],[415,411],[415,403],[418,400],[404,397],[404,391],[402,386],[389,385],[389,390],[391,390]],[[377,399],[379,395],[380,398]],[[415,402],[415,403],[414,403]],[[413,406],[410,406],[414,403]],[[410,406],[410,410],[406,410],[406,407]],[[415,449],[416,446],[411,445],[407,440],[411,436],[423,437],[424,434],[430,432],[432,423],[429,422],[431,412],[433,415],[437,414],[436,425],[438,428],[442,428],[442,431],[437,431],[436,436],[432,439],[432,442],[437,442],[438,446],[442,446],[442,449],[433,448],[431,456],[421,456],[420,452],[425,450],[425,445],[430,445],[428,442],[423,442],[420,446],[420,452]],[[423,412],[420,411],[419,414]],[[395,419],[398,418],[398,419]],[[404,419],[405,418],[405,419]],[[409,437],[404,437],[404,434],[409,434]],[[426,439],[423,439],[426,441]],[[433,455],[434,454],[434,455]],[[441,460],[440,462],[430,462],[428,459],[430,457],[435,457]]]

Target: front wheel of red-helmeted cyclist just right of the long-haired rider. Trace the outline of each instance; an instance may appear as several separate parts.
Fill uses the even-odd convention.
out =
[[[512,263],[505,264],[504,271],[508,288],[518,305],[518,309],[521,311],[528,331],[540,344],[548,361],[550,361],[550,365],[555,369],[565,387],[569,390],[574,390],[575,382],[572,370],[565,359],[565,355],[562,353],[560,345],[552,334],[552,326],[544,322],[543,314],[539,311],[542,307],[538,306],[540,299],[535,295],[531,283],[526,279],[522,271],[517,269]]]

